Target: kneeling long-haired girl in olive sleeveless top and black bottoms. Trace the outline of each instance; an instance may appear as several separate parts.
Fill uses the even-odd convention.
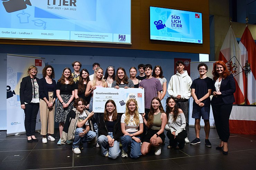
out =
[[[153,146],[155,147],[155,155],[160,155],[161,145],[165,140],[164,127],[167,123],[167,117],[161,104],[161,100],[158,97],[154,97],[151,100],[148,120],[146,120],[144,116],[145,113],[142,115],[142,118],[148,131],[141,145],[141,154],[143,156],[146,155]]]

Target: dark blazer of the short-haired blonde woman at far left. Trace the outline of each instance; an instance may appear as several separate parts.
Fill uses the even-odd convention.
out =
[[[37,84],[40,88],[40,79],[36,77]],[[20,104],[24,105],[26,103],[30,103],[32,100],[32,83],[30,76],[23,77],[20,82]]]

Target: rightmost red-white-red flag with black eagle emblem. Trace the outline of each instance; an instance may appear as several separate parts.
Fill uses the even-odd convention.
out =
[[[256,45],[253,36],[246,25],[239,42],[242,66],[244,69],[245,102],[248,105],[256,104]]]

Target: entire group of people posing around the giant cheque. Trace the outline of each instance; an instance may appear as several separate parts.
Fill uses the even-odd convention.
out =
[[[94,74],[89,75],[86,69],[80,71],[82,64],[75,61],[72,63],[74,72],[68,67],[64,68],[57,84],[53,79],[55,74],[52,66],[45,66],[41,79],[36,77],[37,68],[30,66],[28,76],[22,78],[20,84],[20,101],[25,112],[27,141],[38,141],[34,134],[36,116],[40,108],[42,142],[47,143],[47,139],[55,140],[52,137],[55,117],[60,131],[57,144],[73,143],[74,153],[81,153],[81,143],[95,139],[96,147],[101,147],[102,156],[112,159],[120,155],[120,140],[123,147],[122,157],[128,157],[129,153],[131,158],[138,158],[140,155],[146,155],[151,148],[155,148],[155,155],[160,155],[161,145],[165,141],[164,129],[170,140],[167,148],[182,149],[185,142],[189,142],[188,99],[192,95],[192,118],[195,118],[196,138],[190,144],[200,143],[202,117],[205,123],[205,145],[211,147],[208,138],[210,95],[213,95],[211,105],[221,139],[216,149],[222,149],[223,153],[227,154],[228,119],[236,90],[233,75],[229,73],[225,63],[218,61],[212,71],[213,83],[212,79],[205,75],[208,71],[207,65],[201,63],[198,65],[200,77],[192,83],[188,73],[184,71],[184,63],[177,61],[175,65],[177,73],[171,77],[168,89],[159,65],[154,69],[150,64],[138,65],[140,74],[137,77],[137,69],[131,67],[128,78],[124,68],[117,68],[115,73],[113,66],[107,67],[103,76],[99,63],[93,64]],[[93,113],[93,90],[101,87],[144,88],[145,113],[138,113],[135,99],[126,102],[126,112],[122,116],[117,114],[113,100],[106,102],[104,114]],[[164,111],[161,100],[166,91],[171,97],[167,98]]]

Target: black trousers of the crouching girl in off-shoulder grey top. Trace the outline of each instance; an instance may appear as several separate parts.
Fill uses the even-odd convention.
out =
[[[172,148],[176,148],[177,142],[179,142],[178,146],[180,149],[183,149],[185,146],[185,138],[187,137],[186,130],[182,130],[175,138],[172,132],[169,130],[166,133],[167,137],[170,139],[169,143]]]

